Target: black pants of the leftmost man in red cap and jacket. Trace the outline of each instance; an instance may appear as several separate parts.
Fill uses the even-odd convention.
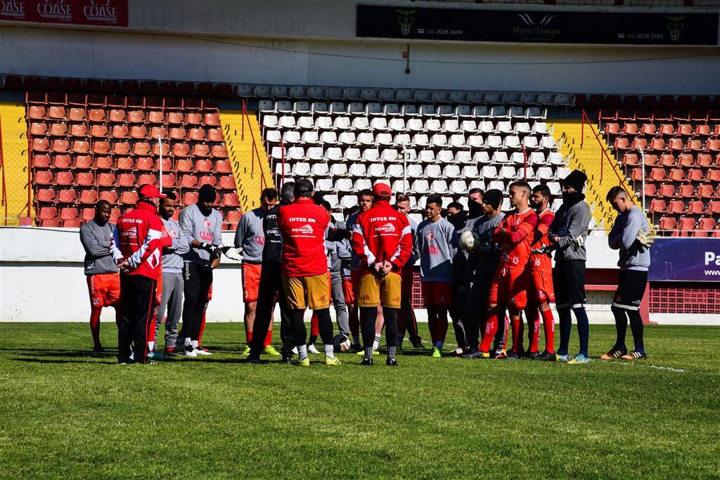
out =
[[[130,345],[135,346],[135,363],[147,361],[148,329],[157,306],[158,281],[142,275],[120,276],[122,318],[117,325],[117,361],[130,362]]]

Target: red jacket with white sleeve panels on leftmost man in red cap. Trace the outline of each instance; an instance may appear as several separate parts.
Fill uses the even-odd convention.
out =
[[[145,201],[120,217],[112,232],[110,251],[116,263],[127,260],[132,271],[128,275],[142,275],[157,280],[161,276],[162,249],[172,245],[173,239],[158,217],[158,209]]]

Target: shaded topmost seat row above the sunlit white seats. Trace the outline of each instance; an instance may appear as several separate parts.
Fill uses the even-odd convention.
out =
[[[244,97],[276,99],[329,99],[329,100],[380,100],[380,101],[433,101],[462,104],[541,104],[572,105],[568,94],[535,94],[533,92],[480,92],[480,91],[428,91],[409,89],[356,89],[322,86],[269,86],[240,85],[238,94]]]

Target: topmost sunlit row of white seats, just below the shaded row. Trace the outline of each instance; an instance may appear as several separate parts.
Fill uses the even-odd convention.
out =
[[[341,101],[333,101],[328,106],[324,101],[313,101],[312,104],[307,101],[296,101],[292,103],[289,100],[281,100],[273,102],[272,100],[261,100],[258,102],[258,110],[263,114],[330,114],[336,115],[356,115],[356,116],[384,116],[384,117],[463,117],[463,118],[528,118],[543,119],[547,117],[547,112],[540,107],[505,107],[503,105],[497,107],[486,107],[485,105],[399,105],[399,104],[379,104],[370,102],[363,104],[361,102],[353,102],[351,104],[343,104]]]

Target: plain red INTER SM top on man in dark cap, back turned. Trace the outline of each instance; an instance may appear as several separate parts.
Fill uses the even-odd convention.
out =
[[[280,270],[284,276],[322,275],[328,272],[325,229],[330,215],[312,199],[297,199],[280,207],[277,226],[282,236]]]

